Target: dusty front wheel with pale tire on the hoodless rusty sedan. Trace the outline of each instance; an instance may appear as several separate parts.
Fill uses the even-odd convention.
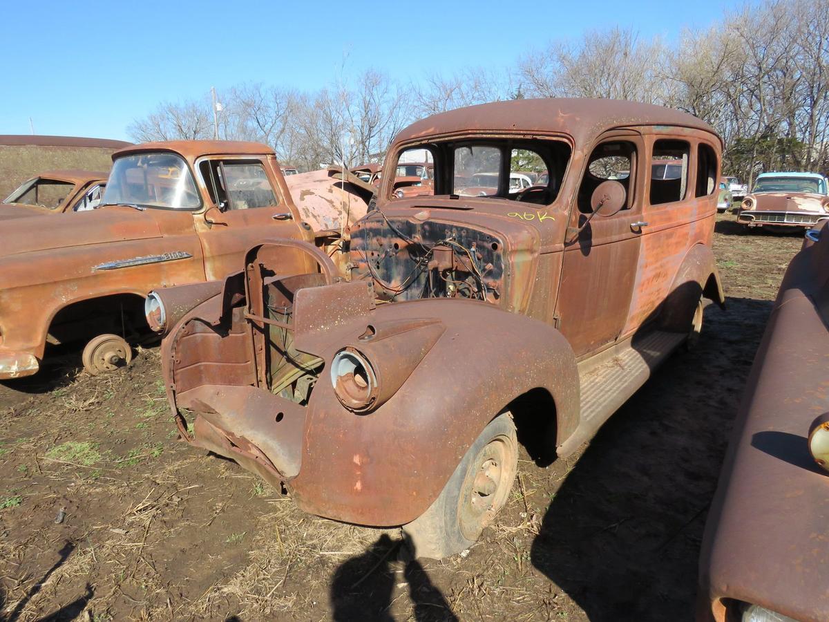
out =
[[[505,412],[483,429],[429,509],[403,526],[412,554],[441,559],[471,547],[507,503],[517,469],[516,426]]]

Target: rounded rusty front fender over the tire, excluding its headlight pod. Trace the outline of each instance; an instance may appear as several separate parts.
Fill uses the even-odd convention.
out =
[[[380,331],[385,322],[405,319],[434,319],[445,330],[375,411],[347,410],[322,373],[308,404],[302,466],[288,483],[308,513],[372,526],[414,520],[484,426],[536,388],[555,401],[555,413],[537,415],[557,418],[558,439],[575,429],[579,378],[570,344],[548,324],[489,304],[428,299],[380,306],[353,324],[353,334],[333,331],[338,339],[314,353],[330,363],[368,324]],[[394,357],[373,362],[394,363]]]

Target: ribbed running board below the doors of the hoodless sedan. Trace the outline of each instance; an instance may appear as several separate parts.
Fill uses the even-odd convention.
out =
[[[685,339],[684,333],[657,330],[579,363],[579,426],[556,452],[560,456],[571,454],[592,438]]]

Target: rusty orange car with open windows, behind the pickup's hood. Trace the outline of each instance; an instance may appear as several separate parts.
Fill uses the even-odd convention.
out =
[[[106,178],[107,173],[93,171],[41,173],[6,197],[0,204],[0,219],[94,210],[104,196]]]

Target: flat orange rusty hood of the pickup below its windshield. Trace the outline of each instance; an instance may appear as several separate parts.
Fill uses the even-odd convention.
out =
[[[132,207],[106,207],[55,214],[48,221],[38,216],[9,218],[0,221],[0,255],[160,237],[158,223],[150,212]]]

